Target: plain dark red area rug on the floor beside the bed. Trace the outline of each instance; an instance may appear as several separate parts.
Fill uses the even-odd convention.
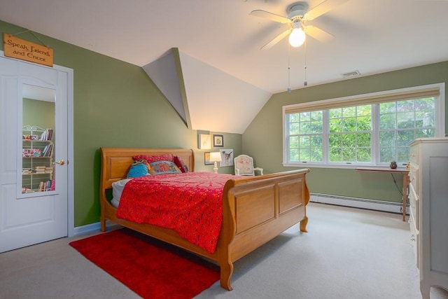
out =
[[[219,279],[219,267],[126,228],[70,245],[143,298],[193,298]]]

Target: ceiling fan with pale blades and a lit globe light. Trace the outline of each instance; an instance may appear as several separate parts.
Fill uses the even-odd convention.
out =
[[[346,1],[349,0],[325,0],[322,1],[321,4],[318,4],[318,6],[311,8],[309,11],[307,2],[296,2],[295,4],[289,6],[288,17],[283,17],[282,15],[276,15],[275,13],[269,13],[268,11],[262,10],[251,11],[251,15],[255,15],[256,17],[266,18],[274,22],[289,25],[288,30],[281,32],[281,34],[272,39],[272,41],[269,41],[269,43],[265,44],[265,46],[262,46],[261,49],[267,50],[272,48],[272,46],[288,35],[289,43],[293,47],[302,46],[306,38],[305,34],[308,34],[318,41],[329,41],[334,37],[332,34],[313,25],[305,25],[305,23],[318,18]]]

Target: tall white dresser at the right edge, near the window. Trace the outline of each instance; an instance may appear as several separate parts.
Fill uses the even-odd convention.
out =
[[[409,225],[423,299],[448,290],[448,138],[421,138],[409,152]]]

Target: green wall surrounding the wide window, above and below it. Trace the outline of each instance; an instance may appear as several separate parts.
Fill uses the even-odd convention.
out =
[[[283,167],[282,106],[302,102],[360,95],[383,90],[409,88],[418,85],[448,82],[448,62],[391,71],[384,74],[352,78],[350,80],[300,88],[273,95],[243,134],[243,150],[253,155],[265,173],[295,169]],[[447,91],[445,91],[447,92]],[[445,102],[448,96],[445,95]],[[448,104],[445,103],[445,119]],[[448,132],[448,123],[445,123]],[[311,168],[307,184],[311,193],[360,197],[373,200],[400,202],[402,176],[395,174],[356,172],[354,169]]]

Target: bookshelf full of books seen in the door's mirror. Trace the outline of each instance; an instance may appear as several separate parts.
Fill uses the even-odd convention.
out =
[[[22,193],[44,192],[53,185],[53,130],[22,127]]]

